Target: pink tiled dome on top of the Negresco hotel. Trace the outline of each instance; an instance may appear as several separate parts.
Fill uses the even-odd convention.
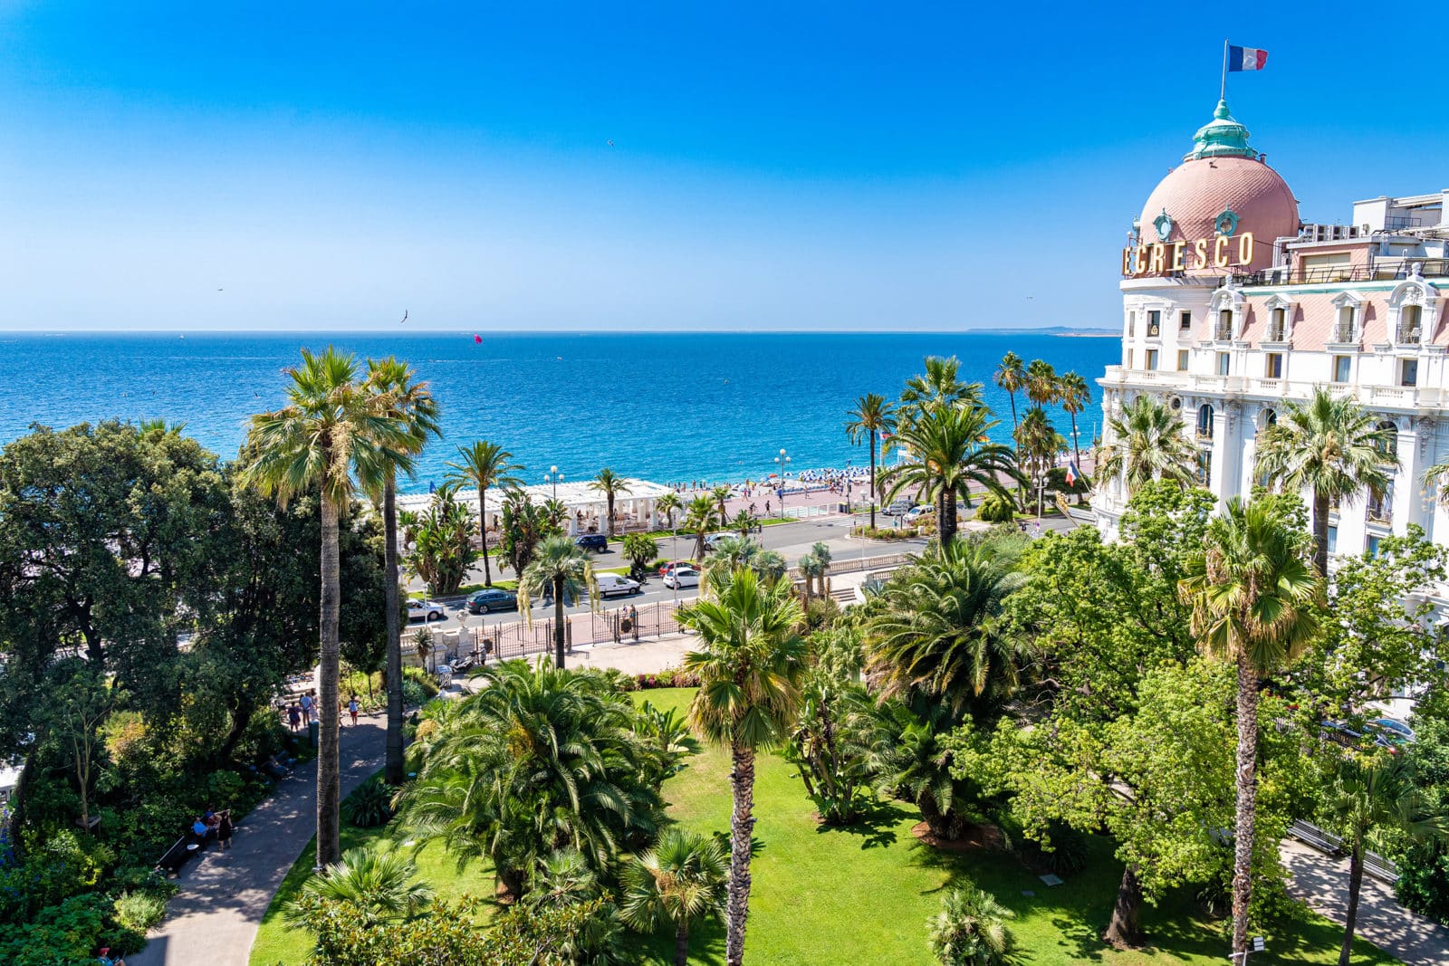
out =
[[[1243,271],[1256,271],[1272,264],[1274,239],[1298,233],[1298,203],[1288,182],[1262,161],[1237,156],[1197,158],[1184,161],[1162,178],[1139,220],[1142,240],[1152,243],[1195,242],[1219,235],[1217,217],[1232,210],[1237,216],[1229,235],[1252,232],[1256,245],[1253,261]],[[1166,213],[1172,229],[1159,239],[1156,222]],[[1190,275],[1217,275],[1211,266],[1188,269]]]

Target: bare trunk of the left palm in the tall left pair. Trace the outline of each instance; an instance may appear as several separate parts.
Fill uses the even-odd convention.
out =
[[[342,605],[339,508],[322,495],[322,640],[317,659],[317,865],[342,854],[339,808],[342,778],[338,770],[338,621]]]

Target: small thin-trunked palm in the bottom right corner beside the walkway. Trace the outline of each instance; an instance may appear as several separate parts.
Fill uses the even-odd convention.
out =
[[[1339,966],[1349,966],[1369,831],[1397,828],[1408,839],[1443,839],[1449,833],[1449,817],[1429,811],[1429,802],[1414,782],[1411,759],[1385,753],[1368,760],[1350,755],[1340,763],[1329,811],[1349,841],[1349,902],[1343,914],[1343,949],[1339,952]]]

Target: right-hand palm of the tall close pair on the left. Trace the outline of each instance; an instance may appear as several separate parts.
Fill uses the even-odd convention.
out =
[[[410,452],[397,453],[388,462],[383,481],[383,589],[387,607],[387,750],[384,781],[403,784],[403,630],[398,601],[397,566],[397,474],[413,472],[413,456],[422,452],[429,436],[440,436],[438,404],[426,382],[416,382],[406,362],[388,356],[381,362],[368,359],[368,388],[375,404],[396,419],[413,439]]]

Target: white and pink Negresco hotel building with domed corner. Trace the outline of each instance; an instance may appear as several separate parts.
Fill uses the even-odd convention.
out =
[[[1355,201],[1346,224],[1303,222],[1219,101],[1127,240],[1122,365],[1097,381],[1104,442],[1124,404],[1158,397],[1197,446],[1198,479],[1226,503],[1252,490],[1262,430],[1327,385],[1392,427],[1400,459],[1387,492],[1333,510],[1330,553],[1372,549],[1408,524],[1449,542],[1449,513],[1420,484],[1449,458],[1449,190]],[[1093,508],[1114,534],[1127,491],[1100,482]]]

